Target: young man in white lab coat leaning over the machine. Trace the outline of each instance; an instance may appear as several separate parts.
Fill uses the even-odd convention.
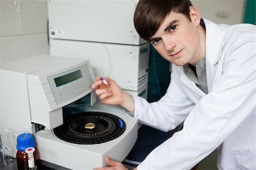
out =
[[[216,148],[218,169],[256,169],[255,26],[201,19],[188,0],[141,0],[134,24],[173,64],[166,94],[148,103],[108,77],[108,86],[97,77],[92,88],[103,103],[124,107],[145,125],[169,131],[184,122],[137,169],[191,169]],[[102,169],[125,169],[105,160],[110,167]]]

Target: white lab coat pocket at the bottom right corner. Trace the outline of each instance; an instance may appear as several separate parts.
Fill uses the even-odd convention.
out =
[[[234,157],[237,159],[241,169],[255,170],[256,169],[256,147],[246,150],[233,150]]]

